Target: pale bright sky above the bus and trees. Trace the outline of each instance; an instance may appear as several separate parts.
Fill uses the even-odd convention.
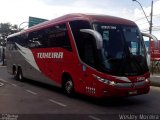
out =
[[[138,1],[150,16],[152,0]],[[29,16],[51,20],[69,13],[117,16],[135,21],[141,31],[149,32],[149,23],[140,5],[132,0],[0,0],[0,23],[19,26],[28,22]],[[20,25],[21,28],[25,26],[27,23]],[[152,33],[160,40],[160,0],[153,0]]]

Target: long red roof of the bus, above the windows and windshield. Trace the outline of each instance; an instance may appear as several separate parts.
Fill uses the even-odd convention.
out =
[[[31,31],[35,31],[38,29],[46,28],[58,23],[64,23],[67,21],[73,21],[73,20],[88,20],[90,22],[106,22],[106,23],[111,23],[111,24],[124,24],[124,25],[136,25],[133,21],[127,20],[124,18],[119,18],[119,17],[114,17],[114,16],[109,16],[109,15],[96,15],[96,14],[82,14],[82,13],[73,13],[73,14],[67,14],[58,18],[55,18],[53,20],[49,20],[43,23],[40,23],[38,25],[32,26],[26,30],[23,30],[19,33],[10,35],[11,36],[16,36],[21,33],[28,33]]]

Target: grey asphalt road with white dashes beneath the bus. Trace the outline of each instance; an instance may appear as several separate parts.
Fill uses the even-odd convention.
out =
[[[156,75],[151,78],[159,80]],[[151,86],[144,95],[103,101],[81,95],[69,98],[54,86],[16,81],[3,66],[0,83],[0,120],[127,120],[128,116],[143,120],[149,115],[160,118],[160,87]]]

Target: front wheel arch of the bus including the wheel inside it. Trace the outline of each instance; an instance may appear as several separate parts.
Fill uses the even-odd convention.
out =
[[[68,73],[63,73],[62,75],[62,89],[67,96],[72,97],[74,95],[74,83]]]

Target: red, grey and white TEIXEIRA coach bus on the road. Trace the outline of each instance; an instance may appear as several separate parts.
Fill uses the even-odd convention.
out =
[[[68,14],[8,36],[6,53],[16,79],[54,84],[67,95],[131,96],[150,89],[142,34],[130,20]]]

